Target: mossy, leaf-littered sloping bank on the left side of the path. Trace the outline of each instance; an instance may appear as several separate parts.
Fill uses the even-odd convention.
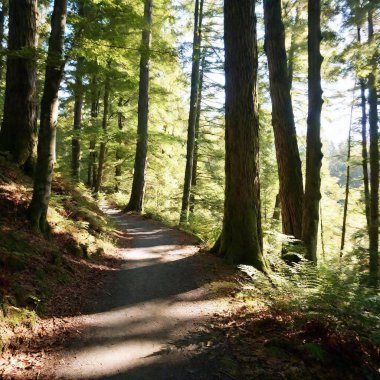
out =
[[[51,232],[36,234],[27,218],[32,180],[0,161],[0,346],[20,326],[58,308],[59,291],[85,281],[105,251],[114,248],[113,228],[90,192],[56,175],[48,212]],[[74,301],[73,301],[74,304]],[[72,305],[62,305],[68,310]]]

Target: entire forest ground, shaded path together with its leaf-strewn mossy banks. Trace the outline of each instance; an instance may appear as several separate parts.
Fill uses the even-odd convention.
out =
[[[274,307],[265,276],[252,281],[178,229],[102,211],[59,179],[52,236],[36,235],[30,180],[0,169],[0,379],[380,378],[365,334]]]

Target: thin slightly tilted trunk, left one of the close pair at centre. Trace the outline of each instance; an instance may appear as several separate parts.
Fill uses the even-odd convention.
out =
[[[190,110],[187,126],[187,154],[185,180],[183,184],[183,196],[180,223],[187,223],[189,217],[190,192],[194,164],[195,149],[195,129],[197,120],[198,92],[199,92],[199,67],[200,67],[200,48],[203,18],[203,0],[195,0],[194,10],[194,36],[193,36],[193,57],[191,70],[191,91],[190,91]]]

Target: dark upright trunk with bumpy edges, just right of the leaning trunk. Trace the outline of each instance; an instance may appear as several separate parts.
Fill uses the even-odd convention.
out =
[[[321,111],[322,87],[320,52],[321,1],[308,2],[308,99],[306,137],[306,185],[303,208],[302,240],[305,244],[306,258],[317,262],[317,242],[319,224],[319,201],[321,199]]]

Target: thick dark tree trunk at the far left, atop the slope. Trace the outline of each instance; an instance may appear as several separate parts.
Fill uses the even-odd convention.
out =
[[[0,151],[24,165],[37,135],[37,0],[10,0],[7,75]],[[30,168],[27,168],[30,169]]]

